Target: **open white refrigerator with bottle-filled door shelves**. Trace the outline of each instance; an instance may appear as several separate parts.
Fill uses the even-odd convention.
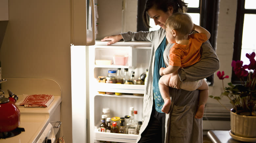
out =
[[[113,56],[125,55],[128,60],[124,65],[115,65]],[[72,62],[72,118],[73,142],[86,132],[86,124],[90,122],[90,143],[99,141],[134,143],[138,135],[99,132],[102,108],[110,109],[111,117],[129,115],[129,107],[138,111],[137,119],[142,121],[144,85],[127,85],[99,83],[98,76],[107,76],[109,70],[124,68],[135,72],[135,79],[146,72],[151,55],[151,42],[117,42],[107,46],[107,42],[96,41],[93,46],[71,46]],[[96,60],[108,60],[111,64],[98,64]],[[101,92],[117,92],[121,95],[102,94]],[[136,95],[133,95],[136,94]],[[89,100],[89,106],[85,105]],[[89,112],[90,118],[86,118]],[[77,139],[76,136],[77,135]],[[87,134],[88,135],[88,134]]]

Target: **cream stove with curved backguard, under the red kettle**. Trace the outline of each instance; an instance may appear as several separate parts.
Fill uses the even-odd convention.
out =
[[[10,89],[20,99],[24,96],[23,94],[50,94],[54,95],[54,100],[45,108],[18,106],[20,110],[20,125],[17,129],[19,134],[13,136],[12,133],[4,133],[0,138],[0,143],[42,143],[42,138],[44,140],[48,137],[46,131],[52,130],[53,136],[57,134],[59,128],[53,128],[51,124],[54,123],[53,121],[60,121],[61,88],[56,81],[7,78],[7,82],[2,84],[2,90],[7,91],[7,89]],[[11,136],[7,137],[9,135]]]

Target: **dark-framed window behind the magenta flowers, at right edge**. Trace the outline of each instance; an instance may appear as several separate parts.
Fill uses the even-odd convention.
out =
[[[256,1],[255,0],[238,0],[237,1],[237,18],[234,40],[233,60],[242,60],[244,65],[249,64],[246,53],[256,51],[255,40],[255,19],[256,19]],[[234,76],[233,76],[234,75]],[[240,83],[239,79],[232,73],[232,82]]]

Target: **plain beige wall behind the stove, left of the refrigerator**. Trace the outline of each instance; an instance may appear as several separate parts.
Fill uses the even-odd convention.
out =
[[[72,143],[70,0],[9,0],[9,22],[0,29],[5,31],[3,77],[57,81],[62,88],[60,135]]]

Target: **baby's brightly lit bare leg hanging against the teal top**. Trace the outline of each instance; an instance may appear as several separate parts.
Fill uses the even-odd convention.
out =
[[[170,99],[170,92],[169,92],[169,80],[170,80],[171,74],[163,75],[158,82],[159,90],[161,93],[161,96],[164,100],[164,104],[162,107],[162,112],[168,113],[171,106],[171,99]]]

